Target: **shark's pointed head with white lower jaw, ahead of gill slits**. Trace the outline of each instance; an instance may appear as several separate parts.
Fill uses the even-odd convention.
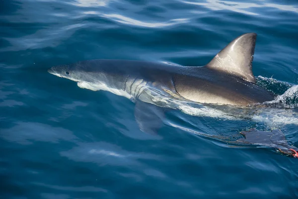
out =
[[[121,62],[116,62],[116,64],[121,66]],[[123,69],[117,69],[117,66],[114,61],[88,60],[70,65],[53,66],[48,69],[48,72],[75,81],[80,88],[93,91],[107,90],[131,98],[131,95],[125,94],[121,90],[129,75],[124,74]]]

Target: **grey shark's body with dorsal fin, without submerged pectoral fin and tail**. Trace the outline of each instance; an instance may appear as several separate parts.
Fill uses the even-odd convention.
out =
[[[198,103],[248,106],[274,99],[272,93],[255,84],[252,74],[256,36],[247,33],[237,37],[206,66],[89,60],[53,66],[48,72],[76,81],[81,88],[107,90],[157,106],[152,92]]]

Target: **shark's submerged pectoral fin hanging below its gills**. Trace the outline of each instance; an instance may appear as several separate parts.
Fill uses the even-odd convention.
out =
[[[139,100],[135,107],[135,118],[142,132],[156,134],[163,124],[164,109]]]

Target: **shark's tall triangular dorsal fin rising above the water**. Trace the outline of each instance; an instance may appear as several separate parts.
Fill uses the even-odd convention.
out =
[[[235,76],[255,83],[251,63],[257,34],[246,33],[229,43],[206,67],[224,70]]]

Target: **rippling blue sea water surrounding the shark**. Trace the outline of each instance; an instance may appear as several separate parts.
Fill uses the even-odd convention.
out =
[[[223,140],[280,129],[298,147],[298,2],[238,1],[1,1],[0,198],[297,199],[297,158]],[[130,100],[47,72],[90,59],[203,66],[246,32],[258,84],[282,100],[249,117],[187,107],[143,133]]]

